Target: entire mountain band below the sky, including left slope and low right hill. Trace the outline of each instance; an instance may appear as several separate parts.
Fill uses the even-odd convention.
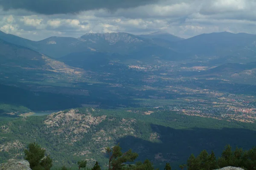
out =
[[[219,32],[183,39],[163,31],[147,35],[118,32],[87,33],[79,38],[49,37],[31,41],[0,32],[0,49],[1,64],[15,66],[15,69],[57,69],[64,72],[65,69],[72,70],[71,65],[96,71],[108,65],[111,60],[122,63],[133,59],[154,64],[155,59],[198,59],[208,61],[208,65],[218,66],[201,74],[235,74],[254,69],[252,65],[239,63],[255,61],[256,35]],[[54,60],[56,58],[59,61]],[[50,63],[55,63],[55,68]]]

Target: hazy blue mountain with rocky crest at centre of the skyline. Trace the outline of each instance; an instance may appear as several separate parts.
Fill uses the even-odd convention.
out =
[[[158,45],[158,42],[154,40],[122,32],[106,34],[89,33],[81,36],[79,40],[90,51],[78,51],[67,54],[61,60],[72,60],[74,64],[75,60],[79,59],[79,65],[83,63],[82,60],[84,60],[84,63],[88,61],[85,63],[85,65],[88,65],[92,62],[96,63],[98,59],[101,60],[98,61],[99,64],[109,59],[121,61],[126,59],[151,60],[154,57],[160,57],[161,59],[172,60],[179,55],[175,51],[170,50],[168,46]],[[115,55],[113,56],[112,54]],[[93,59],[95,60],[93,61]]]

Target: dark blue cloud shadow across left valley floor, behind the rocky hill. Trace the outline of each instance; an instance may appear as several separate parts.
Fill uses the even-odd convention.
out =
[[[61,87],[52,87],[60,89]],[[98,89],[97,89],[98,88]],[[55,90],[54,89],[54,90]],[[68,88],[64,90],[68,91]],[[70,90],[72,90],[70,88]],[[79,108],[82,104],[100,103],[102,108],[115,108],[120,105],[136,107],[136,100],[120,98],[119,94],[108,92],[110,89],[95,85],[90,96],[66,95],[43,91],[29,91],[24,88],[17,88],[0,84],[0,104],[14,106],[25,106],[33,111],[63,110],[68,108]],[[112,89],[113,90],[113,89]],[[0,110],[0,113],[4,112]]]

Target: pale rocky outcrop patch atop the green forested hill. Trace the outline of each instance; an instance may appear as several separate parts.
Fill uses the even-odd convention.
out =
[[[71,109],[69,111],[52,113],[44,120],[44,128],[49,135],[65,136],[64,141],[69,144],[81,141],[84,138],[84,134],[88,133],[93,134],[91,136],[92,144],[99,143],[99,146],[102,145],[102,142],[105,143],[108,140],[113,140],[111,137],[107,139],[106,133],[110,136],[113,134],[115,137],[134,135],[135,130],[131,127],[136,122],[134,119],[116,120],[107,117],[105,114],[96,116],[95,112],[94,109],[87,109],[86,113]],[[108,132],[102,129],[103,122],[108,124],[109,122],[113,123],[116,121],[119,124],[118,129],[109,128],[110,131]]]

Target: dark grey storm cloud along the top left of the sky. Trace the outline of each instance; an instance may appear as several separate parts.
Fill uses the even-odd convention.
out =
[[[68,14],[105,8],[131,8],[157,3],[159,0],[0,0],[3,10],[24,9],[38,14]]]

